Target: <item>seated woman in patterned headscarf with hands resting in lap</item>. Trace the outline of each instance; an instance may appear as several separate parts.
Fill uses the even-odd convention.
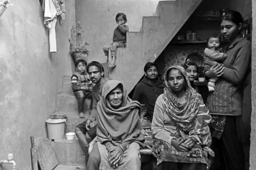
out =
[[[164,80],[166,88],[156,100],[151,127],[157,169],[207,169],[214,156],[209,148],[211,115],[182,66],[171,66]]]

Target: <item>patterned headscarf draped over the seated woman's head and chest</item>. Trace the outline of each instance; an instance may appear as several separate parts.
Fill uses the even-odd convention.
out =
[[[167,73],[170,73],[171,69],[178,69],[186,81],[186,101],[181,104],[178,97],[170,89]],[[186,70],[182,66],[171,66],[166,70],[164,75],[164,81],[166,88],[164,89],[163,100],[165,105],[165,111],[173,118],[177,123],[191,123],[196,117],[201,104],[201,95],[199,95],[194,88],[191,87],[189,79],[186,74]]]

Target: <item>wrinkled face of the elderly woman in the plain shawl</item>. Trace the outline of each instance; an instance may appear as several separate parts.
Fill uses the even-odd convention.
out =
[[[123,100],[123,91],[121,88],[116,87],[107,95],[107,99],[109,100],[110,106],[113,108],[119,108],[122,105]]]

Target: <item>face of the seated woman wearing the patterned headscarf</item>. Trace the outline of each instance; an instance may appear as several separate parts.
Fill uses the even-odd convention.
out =
[[[180,92],[186,85],[183,74],[178,69],[172,69],[167,77],[169,87],[174,92]]]

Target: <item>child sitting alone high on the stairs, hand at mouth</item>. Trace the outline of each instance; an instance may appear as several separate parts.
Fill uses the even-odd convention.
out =
[[[117,27],[114,30],[113,43],[109,45],[105,45],[103,47],[103,52],[105,56],[108,57],[107,62],[109,62],[109,58],[112,57],[112,60],[109,63],[109,67],[116,66],[116,51],[118,47],[125,47],[126,43],[126,32],[129,31],[129,27],[125,25],[127,22],[126,15],[124,13],[118,13],[116,15],[116,23]]]

